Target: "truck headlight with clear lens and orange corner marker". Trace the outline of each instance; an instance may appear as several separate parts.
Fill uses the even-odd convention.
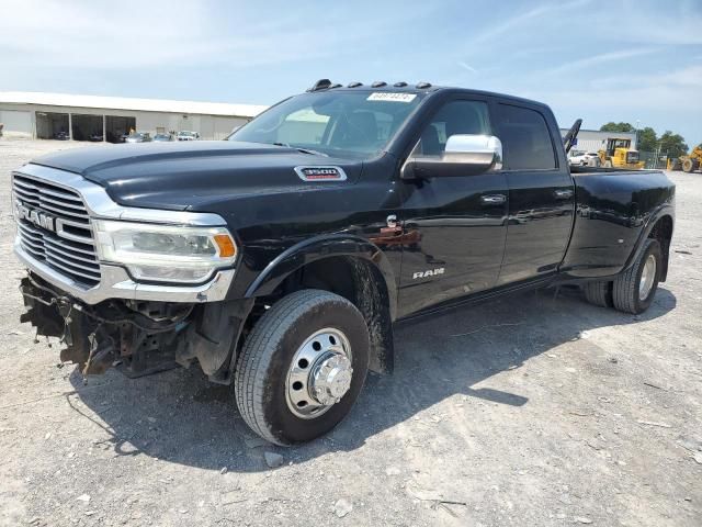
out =
[[[94,222],[98,256],[122,264],[137,280],[196,283],[234,265],[237,246],[226,227]]]

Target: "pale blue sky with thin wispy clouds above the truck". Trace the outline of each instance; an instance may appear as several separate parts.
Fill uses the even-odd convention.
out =
[[[317,79],[535,99],[702,143],[702,0],[0,0],[0,91],[272,104]]]

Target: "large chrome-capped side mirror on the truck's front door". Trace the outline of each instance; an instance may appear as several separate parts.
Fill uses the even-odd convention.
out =
[[[441,156],[412,154],[400,170],[403,179],[476,176],[502,169],[502,143],[494,135],[457,134],[446,139]]]

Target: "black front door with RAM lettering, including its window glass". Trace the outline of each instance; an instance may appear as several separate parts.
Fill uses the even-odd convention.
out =
[[[445,102],[423,127],[412,156],[440,158],[455,134],[494,135],[487,100]],[[497,282],[507,235],[508,186],[501,171],[403,181],[400,316],[476,293]]]

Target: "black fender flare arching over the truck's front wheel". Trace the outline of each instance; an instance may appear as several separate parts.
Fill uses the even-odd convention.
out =
[[[285,249],[249,285],[245,296],[271,294],[285,278],[303,266],[335,256],[367,260],[381,272],[387,288],[390,319],[394,321],[397,313],[397,283],[390,262],[377,246],[353,235],[316,236]]]

